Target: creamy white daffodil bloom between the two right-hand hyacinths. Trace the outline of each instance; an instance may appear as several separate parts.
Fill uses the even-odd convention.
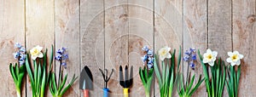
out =
[[[172,58],[172,54],[170,54],[170,50],[171,48],[169,47],[164,47],[164,48],[160,48],[160,50],[158,51],[158,54],[160,55],[160,60],[165,60]]]

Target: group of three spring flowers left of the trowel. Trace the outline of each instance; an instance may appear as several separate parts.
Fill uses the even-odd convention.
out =
[[[66,85],[67,74],[64,78],[62,76],[63,68],[67,68],[67,48],[60,48],[55,53],[55,60],[60,63],[58,80],[56,80],[56,73],[52,69],[54,59],[53,46],[49,59],[47,59],[47,48],[43,52],[43,47],[36,46],[29,50],[29,53],[26,53],[26,48],[20,43],[15,43],[15,48],[17,51],[14,53],[14,58],[18,62],[15,64],[10,63],[9,71],[15,82],[17,97],[21,96],[21,83],[24,81],[25,73],[28,74],[31,82],[32,97],[44,97],[44,91],[47,86],[49,86],[49,91],[53,97],[61,97],[78,78],[73,75],[72,81]]]

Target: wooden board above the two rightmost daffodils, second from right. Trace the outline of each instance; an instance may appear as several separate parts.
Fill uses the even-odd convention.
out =
[[[208,48],[218,52],[225,60],[232,50],[231,1],[208,1]],[[228,96],[224,88],[223,96]]]

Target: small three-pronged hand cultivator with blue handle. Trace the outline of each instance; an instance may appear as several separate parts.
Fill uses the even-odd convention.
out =
[[[110,75],[109,75],[109,77],[108,77],[108,70],[107,69],[105,69],[105,72],[103,72],[102,71],[102,69],[99,69],[101,72],[102,72],[102,76],[103,76],[103,79],[104,79],[104,88],[103,88],[103,92],[104,92],[104,95],[103,95],[103,97],[108,97],[108,92],[109,92],[109,89],[108,89],[108,81],[109,81],[109,79],[110,79],[110,77],[112,76],[112,74],[113,74],[113,69],[112,69],[112,71],[111,71],[111,73],[110,73]]]

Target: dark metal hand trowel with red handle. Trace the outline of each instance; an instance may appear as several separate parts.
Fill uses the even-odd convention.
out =
[[[89,90],[92,89],[92,74],[88,66],[84,66],[84,69],[80,73],[79,88],[83,90],[84,97],[89,97]]]

